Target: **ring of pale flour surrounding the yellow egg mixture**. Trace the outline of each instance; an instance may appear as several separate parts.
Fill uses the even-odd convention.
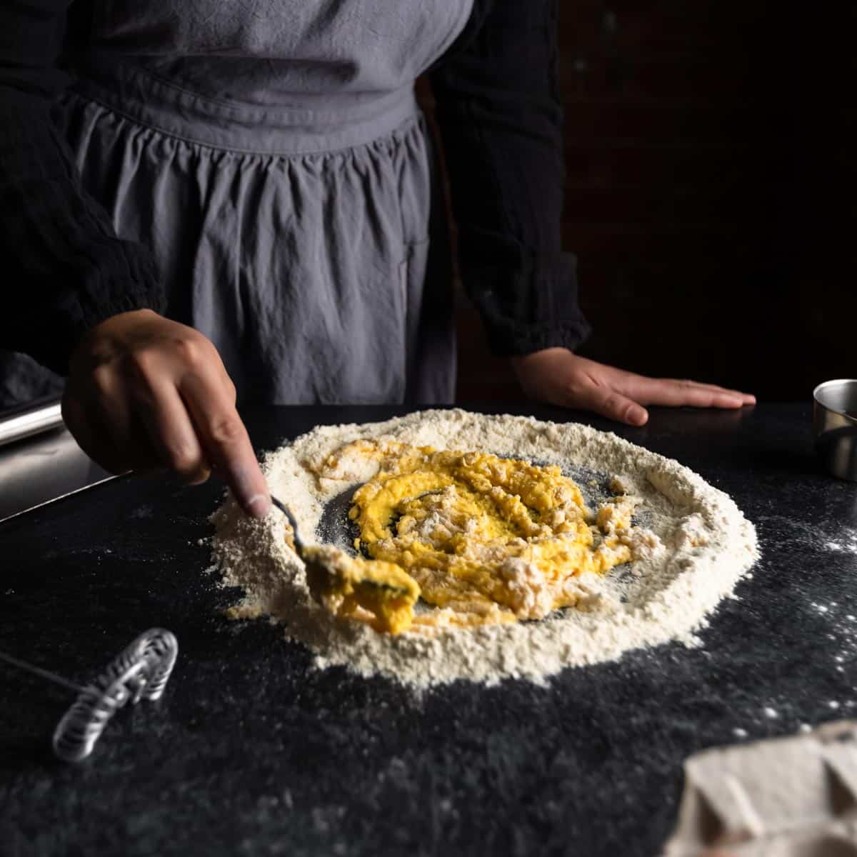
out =
[[[638,500],[634,560],[580,580],[593,595],[585,611],[566,608],[541,621],[470,630],[383,634],[337,619],[315,602],[303,563],[285,542],[284,516],[246,518],[227,500],[212,518],[213,567],[224,586],[243,588],[237,614],[279,621],[289,638],[309,646],[320,668],[343,664],[416,687],[457,679],[494,684],[508,677],[541,683],[562,668],[608,661],[629,649],[673,639],[698,644],[695,632],[758,558],[756,531],[734,501],[674,460],[583,425],[461,410],[320,426],[267,453],[263,470],[271,490],[291,506],[305,540],[324,540],[316,530],[327,505],[374,476],[354,473],[342,481],[316,475],[328,454],[361,438],[559,464],[578,482],[576,468],[595,471],[614,492]]]

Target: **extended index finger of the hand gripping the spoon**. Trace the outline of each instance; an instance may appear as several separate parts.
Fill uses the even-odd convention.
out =
[[[212,373],[189,373],[180,382],[179,392],[207,460],[243,510],[264,517],[271,508],[271,496],[229,390]]]

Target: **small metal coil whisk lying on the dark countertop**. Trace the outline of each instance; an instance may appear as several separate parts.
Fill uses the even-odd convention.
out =
[[[86,687],[49,670],[0,652],[0,660],[78,692],[57,723],[53,748],[66,762],[80,762],[93,751],[105,726],[127,702],[154,701],[164,692],[178,654],[178,641],[164,628],[151,628],[126,646]]]

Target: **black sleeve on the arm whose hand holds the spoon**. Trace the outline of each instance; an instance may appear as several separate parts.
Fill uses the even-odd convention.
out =
[[[0,4],[0,347],[61,374],[88,329],[131,309],[163,309],[150,252],[117,237],[81,185],[51,108],[68,0]]]

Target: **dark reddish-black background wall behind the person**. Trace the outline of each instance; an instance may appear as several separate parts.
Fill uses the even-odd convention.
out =
[[[854,376],[853,4],[560,0],[580,353],[808,400]],[[430,102],[430,99],[426,99]],[[460,399],[515,399],[475,311]]]

